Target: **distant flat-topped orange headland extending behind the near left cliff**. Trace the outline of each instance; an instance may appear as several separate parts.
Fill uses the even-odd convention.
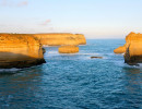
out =
[[[46,46],[85,45],[86,39],[81,34],[35,34],[36,38]]]

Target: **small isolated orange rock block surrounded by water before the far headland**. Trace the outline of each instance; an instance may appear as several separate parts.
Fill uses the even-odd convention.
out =
[[[79,47],[76,46],[61,46],[58,49],[59,53],[76,53],[79,52]]]

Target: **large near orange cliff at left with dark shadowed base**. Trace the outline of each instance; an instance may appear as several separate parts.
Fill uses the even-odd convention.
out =
[[[38,39],[25,34],[0,34],[0,68],[26,68],[44,63]]]

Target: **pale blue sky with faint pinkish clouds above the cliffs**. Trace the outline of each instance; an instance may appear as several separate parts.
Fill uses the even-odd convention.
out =
[[[0,33],[73,33],[88,39],[142,33],[142,0],[0,0]]]

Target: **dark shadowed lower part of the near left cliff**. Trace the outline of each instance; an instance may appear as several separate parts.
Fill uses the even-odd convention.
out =
[[[13,52],[0,52],[0,69],[29,68],[45,62],[44,58],[33,58]]]

